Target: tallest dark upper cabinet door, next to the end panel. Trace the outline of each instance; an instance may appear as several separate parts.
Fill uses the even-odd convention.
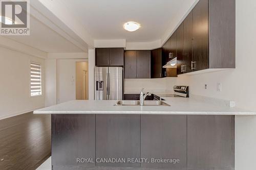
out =
[[[193,71],[208,68],[208,0],[193,9]]]

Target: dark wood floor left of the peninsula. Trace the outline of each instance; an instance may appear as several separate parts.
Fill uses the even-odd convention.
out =
[[[36,169],[51,155],[51,115],[0,120],[0,169]]]

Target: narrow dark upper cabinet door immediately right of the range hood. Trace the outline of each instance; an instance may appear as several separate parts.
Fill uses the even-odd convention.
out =
[[[183,65],[183,23],[177,29],[177,74],[182,74],[181,65]]]

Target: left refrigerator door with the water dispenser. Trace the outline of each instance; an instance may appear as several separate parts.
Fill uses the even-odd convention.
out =
[[[108,67],[95,67],[95,99],[108,100]]]

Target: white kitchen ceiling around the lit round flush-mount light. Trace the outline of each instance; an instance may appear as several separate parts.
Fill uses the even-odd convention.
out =
[[[196,0],[62,0],[94,39],[148,42],[161,39],[177,13]],[[183,15],[185,15],[186,11]],[[178,17],[180,17],[178,15]],[[141,28],[127,32],[123,24],[136,21]],[[177,23],[176,23],[177,24]]]

